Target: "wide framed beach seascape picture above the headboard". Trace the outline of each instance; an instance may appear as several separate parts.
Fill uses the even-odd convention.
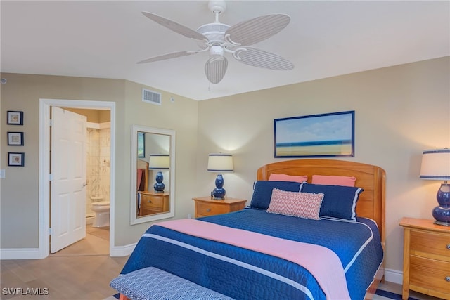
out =
[[[274,119],[274,157],[354,157],[354,110]]]

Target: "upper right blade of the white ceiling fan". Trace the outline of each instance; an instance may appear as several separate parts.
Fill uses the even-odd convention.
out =
[[[229,34],[227,41],[231,44],[248,46],[281,32],[289,22],[290,16],[283,13],[262,15],[231,26],[225,36]]]

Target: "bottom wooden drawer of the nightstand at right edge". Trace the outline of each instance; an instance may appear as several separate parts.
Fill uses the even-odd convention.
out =
[[[409,285],[450,296],[450,263],[411,255]]]

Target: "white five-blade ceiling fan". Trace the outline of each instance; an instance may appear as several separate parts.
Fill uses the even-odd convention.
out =
[[[219,22],[219,15],[226,8],[225,1],[210,1],[208,8],[214,13],[216,20],[213,23],[200,26],[198,30],[191,30],[155,13],[143,11],[143,15],[150,20],[185,37],[200,41],[200,50],[168,53],[141,60],[138,63],[152,63],[209,51],[210,58],[205,63],[205,74],[212,84],[218,84],[225,76],[228,60],[224,53],[232,53],[233,58],[236,58],[240,63],[254,67],[263,67],[270,70],[293,69],[293,63],[285,58],[258,48],[249,47],[283,30],[290,22],[289,15],[282,13],[262,15],[230,26]]]

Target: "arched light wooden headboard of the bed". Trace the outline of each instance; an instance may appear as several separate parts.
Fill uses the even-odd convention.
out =
[[[307,175],[337,175],[356,177],[355,186],[364,188],[356,203],[357,216],[373,219],[378,224],[383,247],[385,245],[385,181],[386,173],[380,167],[359,162],[333,159],[295,159],[274,162],[260,167],[257,180],[269,180],[271,173]]]

